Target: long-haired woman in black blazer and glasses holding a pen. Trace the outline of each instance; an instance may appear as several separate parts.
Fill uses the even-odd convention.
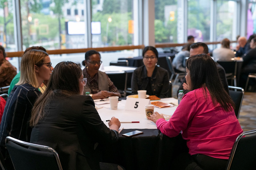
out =
[[[92,98],[83,95],[86,80],[78,64],[58,63],[32,109],[30,143],[56,150],[63,169],[100,169],[98,144],[118,140],[119,120],[112,117],[109,128],[103,123]]]

